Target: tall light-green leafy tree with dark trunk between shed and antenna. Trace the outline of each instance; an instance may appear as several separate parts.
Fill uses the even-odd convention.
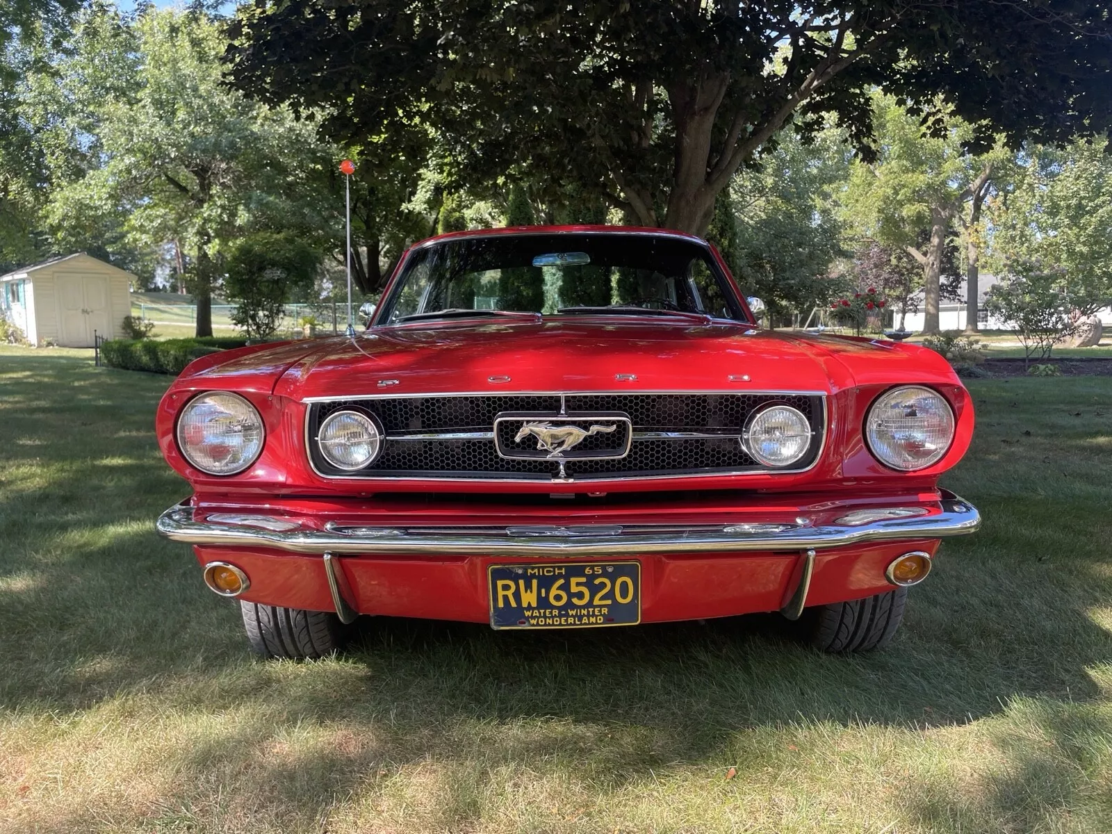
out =
[[[335,151],[291,113],[224,85],[220,19],[202,9],[150,7],[133,22],[115,10],[101,17],[109,19],[100,34],[82,40],[79,32],[73,71],[60,62],[61,78],[73,79],[61,93],[77,103],[72,112],[52,110],[64,118],[44,125],[60,137],[56,156],[69,155],[73,176],[51,193],[48,221],[59,240],[72,240],[82,228],[109,228],[119,218],[129,245],[169,247],[197,302],[197,334],[211,335],[212,291],[224,252],[236,241],[296,228],[317,245],[335,246],[342,224],[337,210],[321,210],[329,202],[320,197],[335,177]],[[110,51],[105,32],[112,27],[131,39],[112,64],[117,77],[99,85],[97,97],[77,95]],[[82,142],[93,152],[82,155]]]

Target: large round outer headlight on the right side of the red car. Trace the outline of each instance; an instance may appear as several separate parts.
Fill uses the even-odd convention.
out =
[[[865,440],[885,466],[911,471],[937,463],[954,439],[954,411],[946,398],[917,385],[893,388],[873,403]]]

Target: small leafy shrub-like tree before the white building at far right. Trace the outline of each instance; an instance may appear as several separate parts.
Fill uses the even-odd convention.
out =
[[[1024,260],[1011,266],[1007,278],[993,285],[985,298],[989,315],[1003,321],[1023,345],[1023,357],[1049,359],[1054,345],[1074,328],[1071,311],[1076,299],[1059,267]]]

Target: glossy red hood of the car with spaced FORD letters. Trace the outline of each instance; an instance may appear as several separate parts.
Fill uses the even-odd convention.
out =
[[[238,360],[238,373],[251,358]],[[267,351],[254,358],[260,370],[278,365]],[[219,375],[219,366],[208,374]],[[274,394],[305,400],[500,390],[835,393],[935,377],[956,381],[937,354],[890,341],[734,322],[473,320],[381,327],[355,338],[319,340],[275,377]]]

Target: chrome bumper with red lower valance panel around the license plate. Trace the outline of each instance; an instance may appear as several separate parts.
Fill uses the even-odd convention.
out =
[[[513,513],[523,524],[498,524]],[[460,523],[461,519],[470,522]],[[657,520],[654,520],[657,519]],[[250,577],[246,602],[310,610],[486,622],[492,565],[636,559],[642,622],[783,610],[891,590],[886,566],[973,533],[980,515],[951,493],[793,504],[766,497],[714,508],[673,503],[548,514],[456,513],[345,502],[181,504],[158,520],[201,565]]]

